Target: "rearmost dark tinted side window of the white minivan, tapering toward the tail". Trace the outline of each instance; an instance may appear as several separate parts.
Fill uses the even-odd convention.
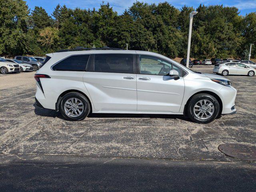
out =
[[[49,58],[50,59],[50,58]],[[59,71],[84,71],[89,59],[89,55],[73,55],[52,67],[52,70]],[[46,61],[47,62],[47,61]],[[46,63],[44,62],[44,63]]]

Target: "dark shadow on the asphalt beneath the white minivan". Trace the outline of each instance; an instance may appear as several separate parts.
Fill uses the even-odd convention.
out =
[[[36,115],[43,117],[60,118],[65,120],[60,112],[55,110],[40,108],[34,103],[34,112]],[[183,115],[172,114],[119,114],[119,113],[90,113],[87,118],[164,118],[164,119],[180,119],[191,122],[189,118]]]

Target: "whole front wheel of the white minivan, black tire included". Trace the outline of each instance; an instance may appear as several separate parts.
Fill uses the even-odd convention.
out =
[[[200,102],[202,103],[201,107],[203,108],[200,108]],[[205,106],[209,108],[207,109]],[[186,107],[186,115],[190,120],[196,123],[210,123],[218,117],[219,113],[220,104],[218,100],[210,94],[202,93],[192,96]]]

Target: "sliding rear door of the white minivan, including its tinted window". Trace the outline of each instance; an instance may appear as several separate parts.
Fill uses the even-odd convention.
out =
[[[92,54],[84,84],[100,112],[136,112],[135,54]]]

